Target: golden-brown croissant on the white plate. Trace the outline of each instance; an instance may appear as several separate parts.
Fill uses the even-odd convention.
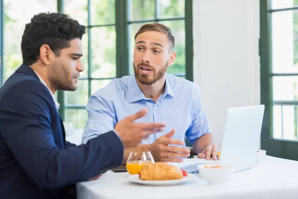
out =
[[[166,162],[144,165],[140,172],[141,180],[176,180],[182,178],[181,169]]]

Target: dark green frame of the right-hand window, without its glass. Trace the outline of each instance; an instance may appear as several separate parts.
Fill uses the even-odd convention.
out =
[[[298,150],[298,141],[273,138],[273,105],[279,104],[298,106],[298,101],[274,101],[272,79],[273,77],[281,76],[298,76],[298,74],[272,73],[271,14],[273,12],[295,9],[298,9],[298,6],[284,9],[271,9],[271,0],[260,0],[260,83],[261,104],[265,105],[261,131],[261,148],[267,150],[267,155],[291,160],[298,160],[298,154],[296,153]]]

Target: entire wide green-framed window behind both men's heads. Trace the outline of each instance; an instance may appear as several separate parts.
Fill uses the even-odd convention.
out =
[[[87,27],[82,38],[85,70],[80,74],[77,90],[55,94],[61,117],[73,122],[75,128],[85,126],[88,118],[85,105],[91,94],[114,78],[134,73],[134,36],[145,23],[160,22],[172,30],[177,58],[167,73],[193,80],[192,0],[45,0],[43,3],[30,0],[30,4],[37,6],[24,13],[15,11],[24,7],[19,4],[4,0],[4,39],[13,41],[4,42],[4,72],[1,73],[4,81],[21,64],[21,36],[24,24],[33,14],[57,10]]]

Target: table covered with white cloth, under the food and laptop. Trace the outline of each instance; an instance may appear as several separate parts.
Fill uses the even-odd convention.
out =
[[[186,159],[177,166],[204,163]],[[78,199],[298,199],[298,161],[266,156],[256,167],[235,173],[222,185],[210,186],[198,177],[176,186],[144,186],[126,173],[108,171],[95,181],[78,183]]]

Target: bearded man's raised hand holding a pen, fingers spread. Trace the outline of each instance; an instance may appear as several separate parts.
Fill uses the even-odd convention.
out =
[[[149,151],[156,162],[183,162],[183,159],[180,159],[181,157],[190,156],[190,149],[188,148],[169,146],[169,144],[184,145],[181,140],[171,139],[174,134],[175,129],[157,138],[155,142],[149,145]]]

